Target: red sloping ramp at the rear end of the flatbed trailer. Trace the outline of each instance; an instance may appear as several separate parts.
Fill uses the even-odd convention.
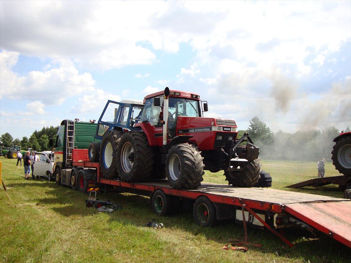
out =
[[[351,248],[350,201],[285,204],[284,210]]]

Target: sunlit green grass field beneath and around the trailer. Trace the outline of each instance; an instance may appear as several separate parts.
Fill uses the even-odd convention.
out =
[[[26,181],[16,160],[0,161],[8,188],[7,194],[0,189],[0,262],[350,262],[351,249],[324,234],[314,237],[303,230],[284,232],[293,248],[267,230],[249,228],[249,242],[263,247],[249,246],[246,253],[222,250],[230,240],[244,240],[242,225],[229,222],[203,229],[188,211],[159,217],[149,198],[125,193],[100,195],[123,209],[97,213],[85,206],[86,194],[44,178]],[[272,175],[273,188],[343,196],[337,186],[284,188],[316,177],[315,163],[262,162]],[[339,174],[327,164],[326,176],[334,175]],[[204,181],[226,183],[223,173],[206,173]],[[165,227],[147,228],[147,221]]]

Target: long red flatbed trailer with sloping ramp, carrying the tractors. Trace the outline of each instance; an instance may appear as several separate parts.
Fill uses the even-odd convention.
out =
[[[256,223],[253,224],[268,228],[290,246],[292,244],[289,241],[265,222],[267,218],[273,217],[274,227],[279,228],[275,221],[276,215],[285,215],[289,218],[292,216],[298,225],[303,225],[306,229],[317,229],[351,248],[351,200],[269,188],[238,188],[215,183],[202,183],[198,189],[192,190],[173,189],[166,180],[127,183],[100,177],[99,163],[86,162],[85,158],[75,160],[80,161],[74,161],[74,167],[97,169],[98,184],[110,185],[122,192],[151,196],[160,189],[166,195],[191,200],[205,196],[213,202],[217,209],[220,209],[220,205],[227,208],[231,206],[233,208],[231,210],[239,211],[239,214],[241,214],[241,209],[244,214],[245,209],[247,210],[245,213],[250,213],[248,217],[251,217],[251,223],[254,222],[253,217],[256,217]],[[225,209],[226,211],[229,210]],[[241,217],[241,221],[244,221],[243,218],[244,216]],[[250,220],[246,218],[245,216],[245,221]],[[240,222],[240,218],[236,219]]]

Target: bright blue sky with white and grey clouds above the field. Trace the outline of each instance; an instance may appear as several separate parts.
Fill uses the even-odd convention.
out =
[[[166,86],[239,129],[351,127],[351,1],[0,1],[0,134]]]

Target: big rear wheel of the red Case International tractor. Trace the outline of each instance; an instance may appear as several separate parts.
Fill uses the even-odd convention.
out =
[[[143,182],[150,178],[154,153],[144,133],[129,131],[119,143],[118,173],[125,182]]]

